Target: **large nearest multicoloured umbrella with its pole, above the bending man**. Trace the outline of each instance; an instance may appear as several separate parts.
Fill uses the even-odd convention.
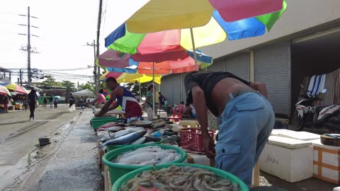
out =
[[[196,47],[226,37],[263,35],[286,8],[283,0],[151,0],[126,21],[126,28],[120,25],[106,37],[106,47],[129,54],[165,53],[179,47],[196,53]]]

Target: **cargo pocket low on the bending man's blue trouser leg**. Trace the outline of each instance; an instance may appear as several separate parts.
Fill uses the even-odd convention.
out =
[[[216,158],[215,158],[215,167],[219,169],[225,169],[226,166],[223,166],[223,163],[226,164],[226,160],[238,157],[238,154],[241,152],[241,144],[231,143],[231,142],[221,142],[218,141],[216,144]]]

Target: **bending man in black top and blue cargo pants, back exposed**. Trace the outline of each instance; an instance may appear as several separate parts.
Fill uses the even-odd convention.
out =
[[[203,149],[215,167],[251,185],[252,170],[275,123],[266,84],[248,82],[228,72],[193,72],[184,79],[187,103],[193,103],[203,135]],[[214,145],[208,133],[208,109],[218,117]]]

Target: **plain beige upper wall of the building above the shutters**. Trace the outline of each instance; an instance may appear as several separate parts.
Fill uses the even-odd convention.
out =
[[[211,57],[218,58],[340,18],[340,0],[286,1],[288,3],[287,10],[269,33],[244,40],[225,40],[200,49]]]

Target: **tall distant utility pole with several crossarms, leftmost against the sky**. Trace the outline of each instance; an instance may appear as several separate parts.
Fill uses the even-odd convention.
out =
[[[27,8],[27,11],[28,11],[28,14],[27,14],[27,34],[23,34],[23,33],[18,33],[19,35],[27,35],[27,47],[26,49],[24,47],[21,47],[21,50],[23,51],[27,51],[28,54],[27,54],[27,72],[28,72],[28,85],[31,85],[32,83],[32,72],[31,72],[31,69],[30,69],[30,53],[39,53],[39,52],[36,52],[35,50],[31,50],[31,47],[30,47],[30,18],[36,18],[34,16],[30,16],[30,7],[28,6]],[[26,15],[19,15],[19,16],[26,16]],[[21,26],[26,26],[26,25],[23,25],[23,24],[19,24]],[[38,28],[36,26],[32,26],[33,28]],[[35,36],[35,37],[39,37],[38,35],[32,35],[32,36]]]

